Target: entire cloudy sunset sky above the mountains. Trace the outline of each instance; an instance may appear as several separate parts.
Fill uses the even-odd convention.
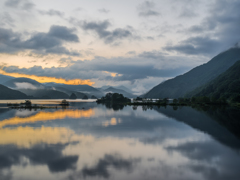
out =
[[[239,0],[0,0],[0,73],[143,93],[240,41]]]

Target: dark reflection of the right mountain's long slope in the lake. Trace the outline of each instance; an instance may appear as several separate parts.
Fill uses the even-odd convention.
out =
[[[172,117],[178,121],[203,131],[213,138],[234,149],[240,149],[240,139],[238,139],[226,127],[221,126],[213,120],[207,113],[199,112],[191,107],[182,107],[179,110],[173,110],[172,107],[154,108],[156,111]],[[230,121],[230,119],[228,119]]]

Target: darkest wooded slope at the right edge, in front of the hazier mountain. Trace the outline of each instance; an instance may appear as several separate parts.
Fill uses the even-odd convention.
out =
[[[188,93],[187,96],[208,96],[215,99],[239,98],[240,102],[240,61],[214,80]]]

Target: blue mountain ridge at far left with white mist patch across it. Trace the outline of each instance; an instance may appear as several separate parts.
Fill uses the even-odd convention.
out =
[[[41,83],[29,78],[15,78],[3,83],[4,86],[13,89],[44,89]]]

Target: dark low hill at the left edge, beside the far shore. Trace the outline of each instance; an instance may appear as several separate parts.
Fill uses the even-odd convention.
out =
[[[0,99],[27,99],[27,95],[0,84]]]

